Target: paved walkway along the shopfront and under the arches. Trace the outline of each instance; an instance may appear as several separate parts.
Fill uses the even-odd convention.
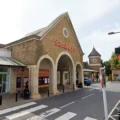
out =
[[[72,88],[68,88],[67,86],[64,87],[64,93],[72,92],[72,91],[73,91]],[[41,95],[40,99],[48,98],[48,88],[40,89],[39,92]],[[63,87],[59,87],[58,95],[60,94],[63,94]],[[20,98],[19,96],[20,95],[18,94],[18,100],[16,102],[16,94],[3,94],[2,105],[0,105],[0,110],[34,101],[33,99],[24,100],[23,98]],[[53,94],[49,93],[49,97],[53,97],[53,96],[54,96]]]

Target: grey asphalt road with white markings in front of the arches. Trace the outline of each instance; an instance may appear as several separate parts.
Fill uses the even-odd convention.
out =
[[[107,83],[109,113],[120,99],[119,86],[118,82]],[[0,110],[0,120],[104,120],[102,91],[99,84],[93,84],[77,91]]]

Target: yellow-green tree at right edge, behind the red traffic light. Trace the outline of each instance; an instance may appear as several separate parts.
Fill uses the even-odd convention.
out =
[[[110,63],[111,69],[120,69],[120,60],[118,60],[117,55],[115,53],[112,54]]]

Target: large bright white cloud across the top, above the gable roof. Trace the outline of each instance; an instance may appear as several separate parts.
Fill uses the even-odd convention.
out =
[[[1,0],[0,43],[16,40],[68,11],[75,29],[120,5],[119,0]]]

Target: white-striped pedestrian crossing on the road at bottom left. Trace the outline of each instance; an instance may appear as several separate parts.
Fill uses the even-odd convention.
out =
[[[39,105],[36,102],[30,102],[23,105],[0,110],[0,117],[2,116],[3,118],[0,120],[49,120],[49,118],[54,115],[55,118],[50,118],[50,120],[73,120],[77,116],[76,113],[70,111],[63,113],[62,109],[64,108],[60,107],[49,109],[47,105]],[[37,112],[37,115],[35,114],[35,112]],[[57,114],[60,112],[62,112],[62,115]]]

